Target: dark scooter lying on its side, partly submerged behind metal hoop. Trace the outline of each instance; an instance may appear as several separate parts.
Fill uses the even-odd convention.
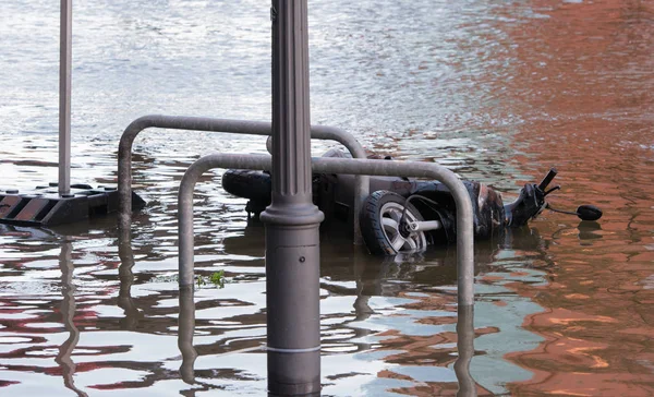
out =
[[[323,157],[349,155],[331,149]],[[379,158],[371,156],[372,158]],[[392,160],[386,157],[388,160]],[[506,228],[518,228],[535,218],[543,209],[577,215],[582,220],[597,220],[602,210],[593,205],[581,205],[574,213],[553,208],[545,197],[560,187],[547,189],[556,177],[550,169],[541,183],[526,183],[518,198],[504,204],[501,195],[476,181],[463,181],[474,214],[475,239],[499,237]],[[271,179],[268,172],[227,170],[222,176],[225,190],[249,198],[249,217],[255,218],[270,204]],[[457,208],[449,189],[438,181],[397,177],[371,177],[373,192],[359,214],[363,240],[373,254],[396,255],[421,252],[432,244],[456,242]],[[325,219],[353,219],[354,176],[314,175],[313,201],[325,214]]]

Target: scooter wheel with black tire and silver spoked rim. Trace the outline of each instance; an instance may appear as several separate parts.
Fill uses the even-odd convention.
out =
[[[363,241],[372,254],[397,255],[426,249],[424,231],[412,232],[408,238],[400,234],[399,219],[404,208],[410,220],[424,220],[417,209],[397,193],[378,190],[365,200],[359,221]]]

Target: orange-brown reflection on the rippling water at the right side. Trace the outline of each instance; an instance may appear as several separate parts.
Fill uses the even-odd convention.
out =
[[[550,284],[511,288],[546,308],[545,338],[507,359],[534,373],[514,395],[654,395],[654,3],[532,1],[543,17],[508,32],[525,123],[516,160],[559,169],[558,207],[605,210],[600,225],[544,214]]]

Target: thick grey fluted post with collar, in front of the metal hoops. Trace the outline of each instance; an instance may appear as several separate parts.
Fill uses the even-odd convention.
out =
[[[266,224],[268,393],[320,393],[319,234],[313,205],[307,0],[272,0],[272,201]]]

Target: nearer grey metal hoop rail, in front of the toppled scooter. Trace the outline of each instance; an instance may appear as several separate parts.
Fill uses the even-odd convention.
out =
[[[459,305],[474,304],[474,233],[473,210],[463,182],[449,169],[434,163],[387,161],[344,158],[313,158],[313,172],[436,179],[452,193],[457,206],[457,286]],[[213,154],[193,163],[180,184],[179,202],[179,284],[194,281],[193,192],[199,177],[213,168],[270,170],[266,155]]]

